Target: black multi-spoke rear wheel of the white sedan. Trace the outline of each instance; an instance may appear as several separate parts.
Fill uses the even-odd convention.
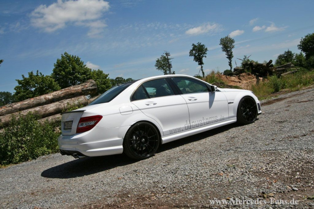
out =
[[[144,160],[156,153],[159,143],[160,137],[155,126],[138,122],[128,130],[123,140],[123,151],[130,158]]]

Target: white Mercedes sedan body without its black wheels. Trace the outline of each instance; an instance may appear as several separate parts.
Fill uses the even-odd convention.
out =
[[[207,85],[209,91],[182,93],[182,89],[181,94],[178,94],[179,90],[176,89],[175,95],[132,101],[133,93],[138,88],[144,89],[145,82],[159,82],[160,79],[164,82],[169,78],[173,81],[187,79],[187,83],[190,82],[189,79],[193,79],[193,82]],[[169,80],[167,82],[170,83]],[[236,122],[238,104],[243,97],[253,98],[257,114],[262,113],[260,102],[251,91],[220,89],[215,86],[213,86],[215,91],[210,91],[210,88],[213,90],[211,86],[187,75],[162,75],[135,81],[109,102],[88,105],[62,114],[62,134],[58,138],[60,152],[76,158],[121,154],[124,152],[123,141],[128,130],[141,121],[146,121],[156,127],[160,144],[182,139]],[[175,92],[173,86],[171,88]],[[148,96],[157,91],[153,89],[148,93],[148,90],[151,91],[149,87],[145,90]],[[142,90],[138,90],[140,91]],[[88,116],[102,116],[102,118],[91,130],[77,133],[80,118]],[[88,122],[80,124],[89,125]]]

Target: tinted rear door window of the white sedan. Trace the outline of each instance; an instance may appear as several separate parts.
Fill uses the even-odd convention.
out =
[[[148,99],[160,96],[175,95],[165,78],[155,79],[143,83],[133,93],[131,100]]]

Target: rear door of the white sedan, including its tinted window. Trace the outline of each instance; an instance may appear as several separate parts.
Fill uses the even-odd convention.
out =
[[[185,99],[174,93],[165,78],[141,84],[132,94],[131,102],[146,116],[156,120],[164,135],[184,131],[189,122]]]

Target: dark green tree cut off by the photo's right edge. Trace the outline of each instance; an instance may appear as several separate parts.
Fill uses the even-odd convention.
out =
[[[314,68],[314,33],[302,37],[298,49],[305,54],[307,66]]]

